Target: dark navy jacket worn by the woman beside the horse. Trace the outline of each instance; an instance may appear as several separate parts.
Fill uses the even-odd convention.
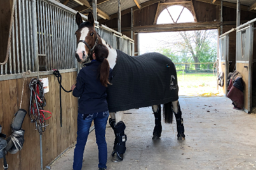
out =
[[[76,88],[72,94],[79,98],[78,112],[81,114],[90,114],[94,112],[108,111],[107,106],[107,88],[104,87],[97,76],[97,69],[100,62],[97,60],[85,64],[77,75]],[[112,70],[109,70],[111,77]]]

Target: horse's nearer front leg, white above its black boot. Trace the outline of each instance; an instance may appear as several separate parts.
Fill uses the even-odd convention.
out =
[[[123,154],[125,154],[125,142],[127,140],[125,135],[125,123],[123,123],[123,112],[111,112],[111,118],[109,124],[114,130],[115,141],[112,152],[112,162],[123,161]]]

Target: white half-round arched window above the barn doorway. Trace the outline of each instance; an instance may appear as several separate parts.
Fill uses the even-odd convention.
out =
[[[194,22],[194,16],[189,9],[180,5],[169,6],[158,16],[156,24]]]

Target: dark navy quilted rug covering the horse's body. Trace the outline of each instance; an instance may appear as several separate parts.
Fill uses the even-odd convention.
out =
[[[109,112],[165,104],[179,99],[177,73],[172,60],[151,52],[118,58],[107,88]]]

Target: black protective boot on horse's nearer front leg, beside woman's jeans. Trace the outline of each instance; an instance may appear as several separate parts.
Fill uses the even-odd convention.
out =
[[[112,162],[120,162],[123,161],[123,154],[125,154],[125,142],[127,137],[125,135],[125,123],[120,121],[116,124],[116,146],[114,151],[112,152]]]

